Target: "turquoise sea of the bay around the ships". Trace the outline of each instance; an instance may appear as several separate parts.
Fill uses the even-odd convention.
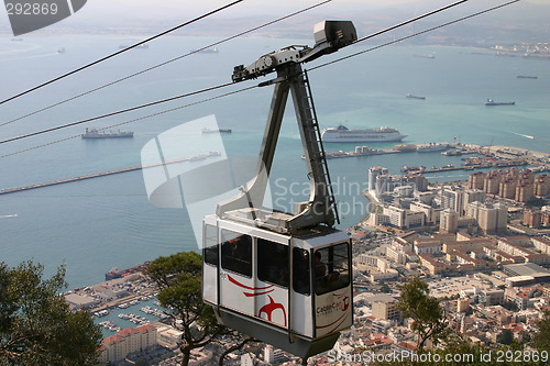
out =
[[[22,42],[0,38],[0,99],[138,42],[123,36],[26,36]],[[84,70],[52,86],[0,106],[0,124],[59,100],[97,88],[131,73],[179,56],[218,41],[207,37],[168,36]],[[219,46],[218,54],[197,54],[116,86],[90,93],[57,108],[0,126],[1,140],[32,133],[121,110],[145,102],[220,85],[231,79],[233,67],[258,56],[309,40],[240,38]],[[57,53],[64,47],[65,53]],[[336,59],[369,45],[358,45],[316,60],[306,68]],[[435,58],[418,57],[433,54]],[[550,62],[520,57],[496,57],[488,49],[411,46],[384,47],[309,74],[317,113],[322,127],[344,123],[349,127],[392,126],[408,137],[404,143],[428,143],[453,138],[482,145],[509,145],[550,153]],[[532,75],[538,79],[518,79]],[[262,80],[258,80],[262,81]],[[248,81],[227,89],[254,85]],[[224,89],[167,104],[135,111],[0,144],[0,189],[26,186],[98,171],[140,165],[140,153],[157,134],[206,115],[215,114],[222,127],[230,156],[257,155],[271,102],[272,89],[256,88],[227,98],[121,125],[134,138],[85,141],[79,137],[34,148],[70,136],[86,126],[102,127],[210,98]],[[405,98],[406,93],[426,100]],[[488,108],[487,98],[516,101],[514,107]],[[521,136],[531,135],[534,140]],[[326,144],[327,151],[353,151],[355,144]],[[371,144],[387,148],[392,144]],[[24,153],[4,156],[30,149]],[[300,158],[301,143],[289,106],[279,138],[274,179],[302,188],[307,182]],[[398,174],[403,165],[443,166],[460,164],[460,157],[439,153],[382,155],[331,159],[342,223],[348,228],[364,214],[371,166],[385,166]],[[464,179],[451,171],[430,179]],[[294,201],[307,197],[298,189],[288,195],[284,184],[273,193]],[[36,190],[0,196],[0,260],[16,265],[34,259],[52,274],[67,264],[70,287],[103,280],[112,267],[125,268],[161,255],[195,249],[187,212],[157,209],[148,201],[141,171],[112,175]]]

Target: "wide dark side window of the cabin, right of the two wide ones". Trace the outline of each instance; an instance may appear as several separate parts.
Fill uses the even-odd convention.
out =
[[[257,278],[288,287],[288,246],[257,239]]]

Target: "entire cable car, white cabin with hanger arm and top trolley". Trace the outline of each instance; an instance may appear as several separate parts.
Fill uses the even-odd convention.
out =
[[[314,47],[286,47],[234,68],[234,82],[277,78],[264,84],[275,88],[257,174],[204,219],[202,247],[202,297],[218,320],[305,361],[332,348],[353,324],[351,241],[333,228],[338,211],[301,64],[358,37],[349,21],[321,22],[314,33]],[[309,200],[295,214],[254,204],[263,202],[288,93],[310,177]]]

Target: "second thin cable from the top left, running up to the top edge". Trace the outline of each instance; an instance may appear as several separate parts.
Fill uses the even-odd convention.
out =
[[[66,103],[66,102],[69,102],[69,101],[72,101],[72,100],[78,99],[78,98],[80,98],[80,97],[84,97],[84,96],[90,95],[90,93],[92,93],[92,92],[96,92],[96,91],[98,91],[98,90],[105,89],[105,88],[110,87],[110,86],[113,86],[113,85],[119,84],[119,82],[121,82],[121,81],[124,81],[124,80],[131,79],[131,78],[133,78],[133,77],[135,77],[135,76],[142,75],[142,74],[145,74],[145,73],[148,73],[148,71],[154,70],[154,69],[156,69],[156,68],[158,68],[158,67],[162,67],[162,66],[168,65],[168,64],[170,64],[170,63],[174,63],[174,62],[176,62],[176,60],[178,60],[178,59],[182,59],[182,58],[188,57],[188,56],[194,55],[194,54],[196,54],[196,53],[199,53],[199,52],[201,52],[201,51],[205,51],[205,49],[208,49],[208,48],[211,48],[211,47],[216,47],[216,46],[218,46],[218,45],[220,45],[220,44],[222,44],[222,43],[226,43],[226,42],[229,42],[229,41],[231,41],[231,40],[238,38],[238,37],[240,37],[240,36],[246,35],[246,34],[249,34],[249,33],[255,32],[255,31],[257,31],[257,30],[260,30],[260,29],[262,29],[262,27],[265,27],[265,26],[268,26],[268,25],[272,25],[272,24],[278,23],[278,22],[283,21],[283,20],[289,19],[289,18],[295,16],[295,15],[297,15],[297,14],[300,14],[300,13],[304,13],[304,12],[309,11],[309,10],[311,10],[311,9],[318,8],[318,7],[323,5],[323,4],[326,4],[326,3],[328,3],[328,2],[331,2],[331,1],[333,1],[333,0],[324,0],[324,1],[322,1],[322,2],[319,2],[319,3],[317,3],[317,4],[314,4],[314,5],[311,5],[311,7],[308,7],[308,8],[301,9],[301,10],[298,10],[298,11],[296,11],[296,12],[294,12],[294,13],[287,14],[287,15],[282,16],[282,18],[277,18],[277,19],[275,19],[275,20],[273,20],[273,21],[270,21],[270,22],[267,22],[267,23],[264,23],[264,24],[261,24],[261,25],[254,26],[254,27],[252,27],[252,29],[250,29],[250,30],[248,30],[248,31],[244,31],[244,32],[241,32],[241,33],[234,34],[234,35],[232,35],[232,36],[229,36],[229,37],[227,37],[227,38],[223,38],[223,40],[221,40],[221,41],[218,41],[218,42],[211,43],[211,44],[209,44],[209,45],[207,45],[207,46],[204,46],[204,47],[200,47],[200,48],[194,49],[194,51],[191,51],[191,52],[189,52],[189,53],[187,53],[187,54],[184,54],[184,55],[182,55],[182,56],[178,56],[178,57],[175,57],[175,58],[168,59],[168,60],[166,60],[166,62],[164,62],[164,63],[161,63],[161,64],[157,64],[157,65],[155,65],[155,66],[152,66],[152,67],[145,68],[145,69],[143,69],[143,70],[141,70],[141,71],[138,71],[138,73],[134,73],[134,74],[128,75],[128,76],[125,76],[125,77],[122,77],[122,78],[117,79],[117,80],[114,80],[114,81],[108,82],[108,84],[102,85],[102,86],[100,86],[100,87],[97,87],[97,88],[90,89],[90,90],[85,91],[85,92],[82,92],[82,93],[79,93],[79,95],[77,95],[77,96],[74,96],[74,97],[67,98],[67,99],[62,100],[62,101],[59,101],[59,102],[56,102],[56,103],[54,103],[54,104],[51,104],[51,106],[47,106],[47,107],[41,108],[41,109],[38,109],[38,110],[34,111],[34,112],[31,112],[31,113],[28,113],[28,114],[24,114],[24,115],[18,117],[18,118],[15,118],[15,119],[13,119],[13,120],[10,120],[10,121],[7,121],[7,122],[3,122],[3,123],[0,123],[0,127],[1,127],[1,126],[4,126],[4,125],[7,125],[7,124],[10,124],[10,123],[13,123],[13,122],[16,122],[16,121],[20,121],[20,120],[26,119],[26,118],[29,118],[29,117],[31,117],[31,115],[34,115],[34,114],[37,114],[37,113],[41,113],[41,112],[47,111],[48,109],[52,109],[52,108],[57,107],[57,106],[62,106],[62,104],[64,104],[64,103]],[[144,41],[144,42],[146,42],[146,41]],[[136,45],[140,45],[140,44],[142,44],[142,43],[138,43]],[[136,45],[134,45],[134,46],[136,46]]]

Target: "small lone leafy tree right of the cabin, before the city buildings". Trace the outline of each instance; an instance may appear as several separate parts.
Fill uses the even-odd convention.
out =
[[[428,340],[437,344],[448,331],[447,317],[438,299],[429,296],[428,284],[414,278],[400,292],[397,308],[405,318],[411,318],[411,329],[418,334],[418,348],[422,350]]]

